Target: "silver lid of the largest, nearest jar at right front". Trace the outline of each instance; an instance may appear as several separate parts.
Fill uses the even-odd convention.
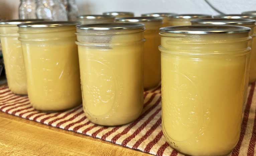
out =
[[[180,34],[216,34],[216,33],[242,33],[249,32],[251,28],[244,26],[225,25],[189,25],[170,26],[160,28],[160,32],[180,33]]]

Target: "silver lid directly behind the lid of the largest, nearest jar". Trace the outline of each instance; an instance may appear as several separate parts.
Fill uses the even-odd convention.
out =
[[[228,19],[228,18],[204,18],[204,19],[192,19],[191,23],[197,24],[214,24],[214,25],[232,25],[232,24],[255,24],[253,19]]]

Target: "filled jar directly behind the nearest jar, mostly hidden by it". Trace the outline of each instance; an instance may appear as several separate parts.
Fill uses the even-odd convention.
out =
[[[250,36],[252,37],[252,40],[255,40],[255,20],[253,19],[225,19],[225,18],[209,18],[209,19],[193,19],[191,20],[192,25],[233,25],[233,26],[245,26],[251,28]],[[254,41],[255,43],[255,41]],[[252,46],[252,41],[249,42],[249,46],[251,47],[251,55],[254,54],[256,51],[256,44]],[[248,63],[247,71],[246,71],[246,80],[245,80],[245,93],[244,93],[244,103],[247,99],[247,89],[249,84],[249,73],[256,72],[256,71],[250,71],[250,66],[253,64],[250,62]],[[252,67],[251,69],[254,69]]]

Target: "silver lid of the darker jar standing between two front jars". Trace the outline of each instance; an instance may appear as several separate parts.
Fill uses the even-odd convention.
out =
[[[152,21],[162,21],[162,17],[125,17],[125,18],[116,18],[116,21],[119,22],[152,22]]]

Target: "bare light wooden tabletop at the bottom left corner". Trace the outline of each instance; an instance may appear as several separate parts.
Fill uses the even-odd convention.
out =
[[[0,112],[0,155],[151,156],[100,139]]]

